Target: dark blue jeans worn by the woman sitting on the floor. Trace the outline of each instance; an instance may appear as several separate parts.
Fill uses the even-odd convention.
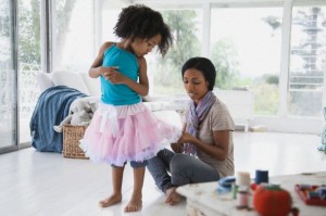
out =
[[[147,165],[156,186],[164,193],[172,187],[217,181],[218,173],[206,163],[188,154],[161,150]]]

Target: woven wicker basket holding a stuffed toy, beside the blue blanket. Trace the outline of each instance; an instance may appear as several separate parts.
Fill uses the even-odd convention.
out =
[[[79,140],[84,137],[86,126],[63,126],[63,151],[64,157],[88,158],[79,148]]]

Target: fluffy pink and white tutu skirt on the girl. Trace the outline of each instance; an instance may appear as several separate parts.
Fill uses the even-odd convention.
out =
[[[93,162],[123,166],[155,156],[180,135],[180,129],[160,120],[143,103],[100,103],[79,147]]]

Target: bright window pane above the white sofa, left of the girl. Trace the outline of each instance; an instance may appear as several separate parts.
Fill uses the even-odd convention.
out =
[[[87,72],[93,59],[93,0],[53,0],[52,71]]]

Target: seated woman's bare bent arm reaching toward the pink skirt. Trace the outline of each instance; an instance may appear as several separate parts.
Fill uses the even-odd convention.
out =
[[[178,143],[189,142],[214,158],[224,161],[228,155],[229,134],[229,130],[213,131],[214,143],[211,145],[184,131],[183,136],[178,140]]]

